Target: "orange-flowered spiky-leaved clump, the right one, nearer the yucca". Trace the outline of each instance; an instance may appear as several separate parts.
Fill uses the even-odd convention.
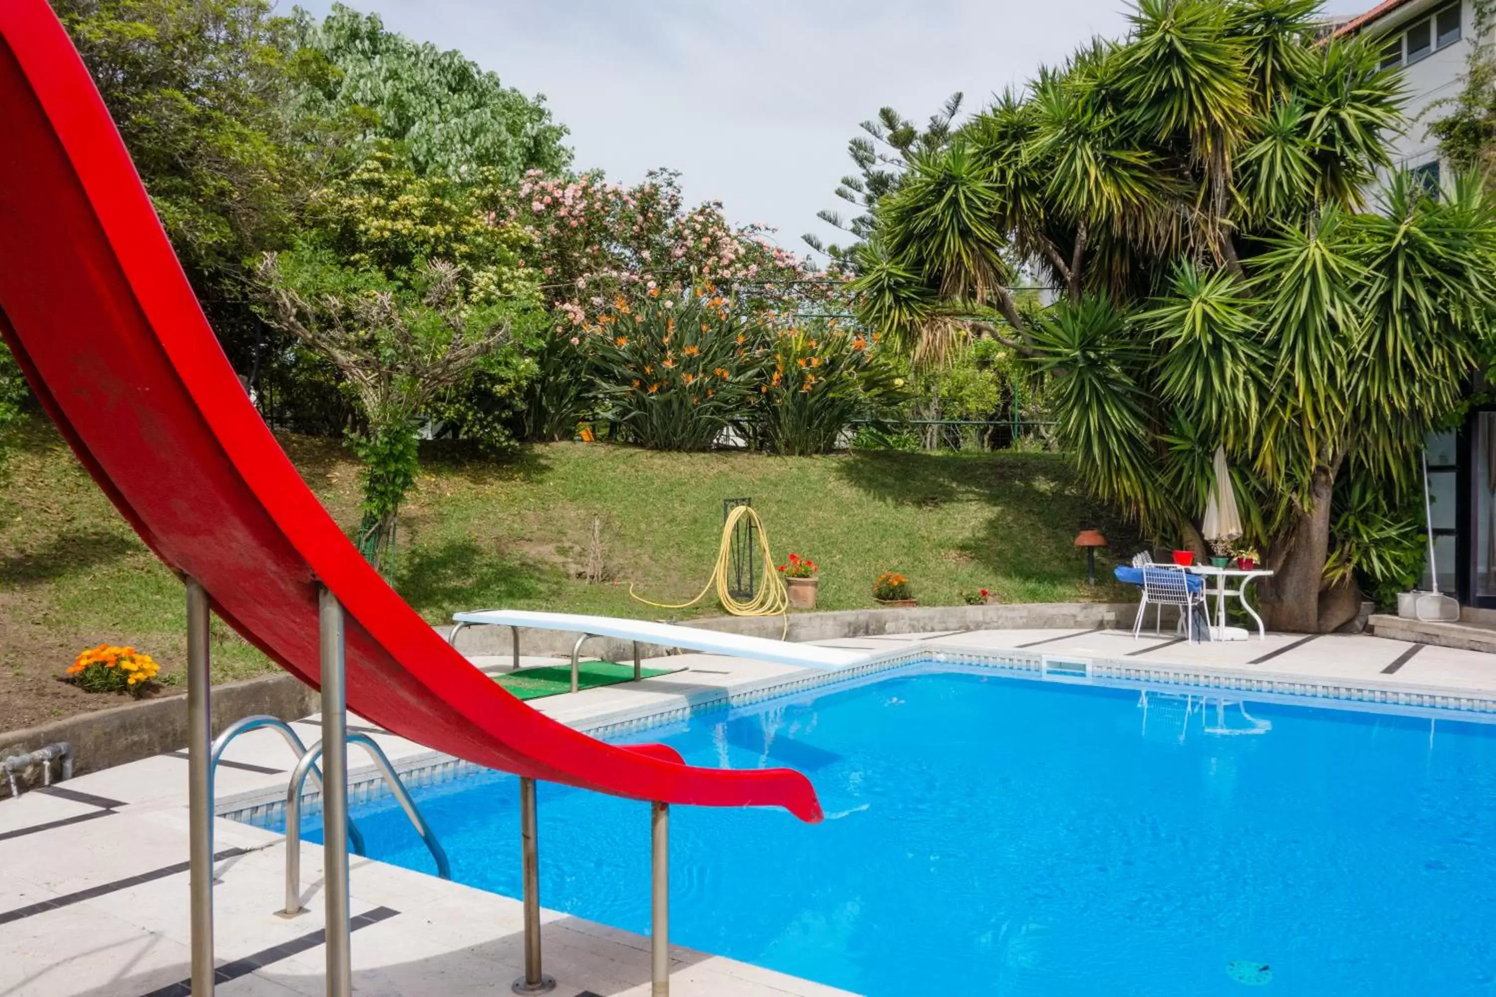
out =
[[[904,378],[878,336],[836,320],[796,323],[773,341],[773,369],[760,386],[766,448],[791,456],[836,448],[854,419],[877,419],[904,401]]]

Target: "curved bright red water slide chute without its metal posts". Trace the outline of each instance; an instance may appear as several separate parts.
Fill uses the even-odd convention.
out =
[[[384,584],[245,396],[46,0],[0,0],[0,333],[141,538],[302,682],[319,685],[325,584],[349,707],[402,737],[619,797],[821,818],[797,771],[696,768],[546,719]]]

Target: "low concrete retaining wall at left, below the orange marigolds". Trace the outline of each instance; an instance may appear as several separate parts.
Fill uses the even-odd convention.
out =
[[[212,688],[214,734],[229,723],[256,713],[269,713],[283,720],[316,713],[316,689],[304,686],[289,674],[262,676],[247,682],[230,682]],[[25,755],[43,744],[67,741],[73,746],[73,774],[123,765],[187,746],[187,697],[171,695],[141,703],[82,713],[51,723],[6,731],[0,734],[0,758]],[[52,777],[58,774],[52,762]],[[33,765],[28,782],[40,782],[40,770]],[[183,776],[186,779],[186,774]]]

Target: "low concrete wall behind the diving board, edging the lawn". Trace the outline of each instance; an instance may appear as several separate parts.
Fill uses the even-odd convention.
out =
[[[1135,602],[1016,602],[1013,605],[920,605],[904,610],[841,610],[835,613],[791,613],[787,640],[836,640],[842,637],[878,637],[881,634],[938,634],[972,629],[1044,629],[1080,626],[1132,626]],[[670,620],[682,626],[767,637],[778,640],[784,632],[782,616],[712,616],[697,620]],[[443,635],[450,626],[437,628]],[[519,652],[524,655],[570,655],[576,634],[545,629],[519,629]],[[458,650],[464,655],[509,655],[507,626],[470,626],[458,634]],[[667,649],[640,646],[646,658],[664,655]],[[613,661],[628,661],[630,641],[597,638],[582,649]]]

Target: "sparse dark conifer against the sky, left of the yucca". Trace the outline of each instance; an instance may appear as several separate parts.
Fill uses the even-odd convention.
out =
[[[923,132],[893,108],[880,108],[877,120],[863,121],[859,127],[865,135],[854,136],[847,142],[847,155],[851,157],[857,172],[842,176],[835,191],[847,203],[856,205],[859,214],[847,220],[839,212],[829,209],[815,215],[833,229],[850,235],[853,242],[847,245],[827,244],[820,236],[806,233],[800,236],[805,245],[829,256],[836,269],[856,272],[857,247],[874,232],[874,212],[878,202],[898,190],[914,155],[929,155],[945,145],[950,139],[951,124],[960,114],[963,99],[965,96],[960,93],[947,97],[939,112],[931,115]]]

